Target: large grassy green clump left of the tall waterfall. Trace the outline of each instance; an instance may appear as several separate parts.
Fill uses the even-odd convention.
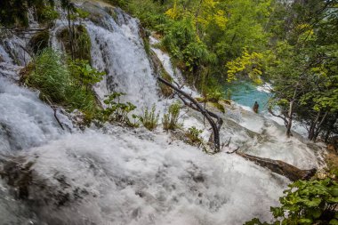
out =
[[[68,109],[78,108],[92,117],[97,110],[93,92],[79,85],[71,76],[67,63],[61,59],[60,52],[50,48],[40,52],[35,60],[35,68],[27,77],[28,86],[38,89],[44,99]]]

